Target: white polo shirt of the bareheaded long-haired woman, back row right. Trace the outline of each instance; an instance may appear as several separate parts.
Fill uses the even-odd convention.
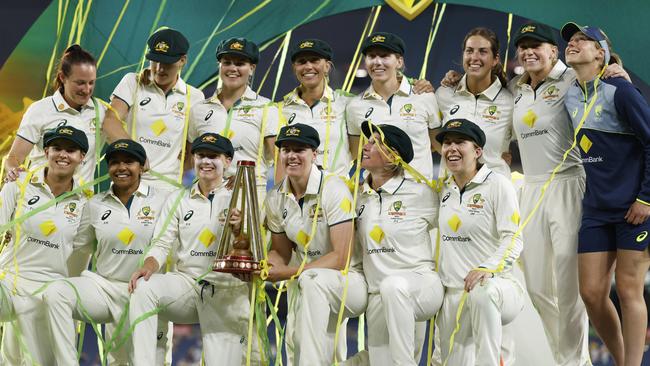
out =
[[[467,89],[467,75],[455,88],[440,87],[436,91],[438,105],[444,122],[454,118],[465,118],[476,123],[485,132],[483,158],[493,171],[510,177],[510,167],[501,158],[508,151],[512,140],[512,94],[497,78],[492,85],[478,96]],[[444,123],[443,123],[444,124]],[[440,164],[440,176],[445,169],[444,159]]]

